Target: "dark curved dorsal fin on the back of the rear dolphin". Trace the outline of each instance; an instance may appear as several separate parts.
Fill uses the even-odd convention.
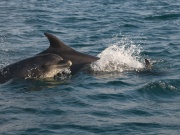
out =
[[[59,40],[56,36],[49,34],[47,32],[44,35],[48,38],[50,43],[50,48],[58,48],[60,50],[73,50],[71,47],[64,44],[61,40]]]

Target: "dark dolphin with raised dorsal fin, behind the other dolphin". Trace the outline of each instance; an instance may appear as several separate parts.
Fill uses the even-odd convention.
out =
[[[70,60],[72,62],[72,66],[70,67],[71,74],[75,74],[84,65],[90,64],[99,59],[98,57],[80,53],[72,49],[52,34],[44,33],[44,35],[48,38],[50,47],[39,54],[52,53],[61,56],[64,60]]]

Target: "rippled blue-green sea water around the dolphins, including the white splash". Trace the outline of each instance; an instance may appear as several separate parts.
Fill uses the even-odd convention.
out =
[[[1,0],[0,67],[48,48],[44,32],[100,60],[65,78],[1,84],[0,134],[178,135],[179,9],[179,0]]]

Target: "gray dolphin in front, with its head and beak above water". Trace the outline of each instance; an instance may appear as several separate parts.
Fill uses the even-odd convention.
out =
[[[36,55],[2,68],[0,70],[0,83],[5,83],[13,78],[54,77],[71,65],[71,61],[64,61],[56,54]]]

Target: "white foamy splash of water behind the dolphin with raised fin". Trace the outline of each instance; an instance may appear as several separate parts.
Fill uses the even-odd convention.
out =
[[[93,72],[123,72],[140,70],[144,68],[141,62],[141,47],[122,38],[102,51],[98,57],[100,60],[92,63],[90,68]]]

